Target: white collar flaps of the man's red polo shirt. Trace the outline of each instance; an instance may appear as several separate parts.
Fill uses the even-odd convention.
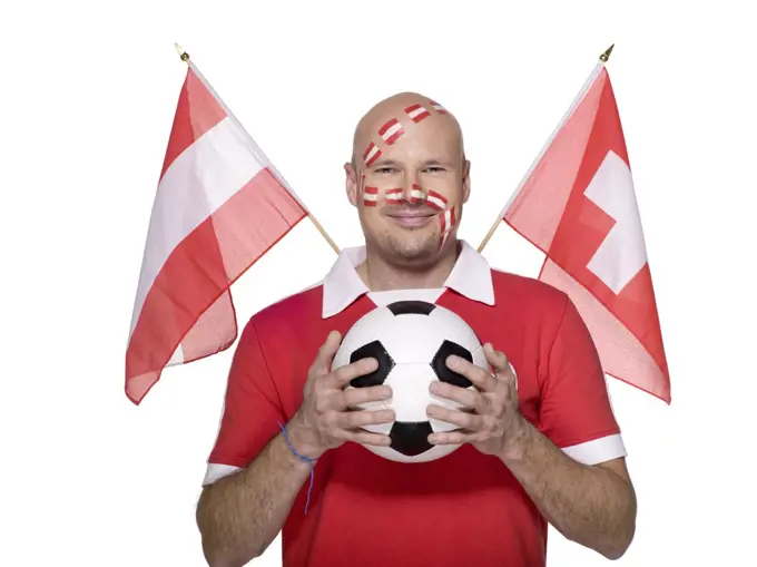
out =
[[[489,263],[465,241],[459,242],[460,256],[444,282],[444,287],[470,300],[494,305],[494,286]],[[365,246],[345,248],[340,253],[323,280],[323,319],[341,313],[361,295],[371,292],[355,271],[364,261]]]

